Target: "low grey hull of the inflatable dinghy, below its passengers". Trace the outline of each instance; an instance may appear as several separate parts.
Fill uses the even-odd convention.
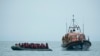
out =
[[[12,50],[30,50],[30,51],[52,51],[52,49],[33,49],[33,48],[22,48],[19,46],[12,46]]]

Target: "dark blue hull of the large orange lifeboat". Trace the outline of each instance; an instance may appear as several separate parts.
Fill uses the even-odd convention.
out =
[[[88,50],[91,46],[91,42],[88,40],[84,41],[73,41],[67,44],[62,44],[63,48],[67,50]]]

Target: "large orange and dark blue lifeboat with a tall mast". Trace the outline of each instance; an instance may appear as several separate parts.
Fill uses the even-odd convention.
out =
[[[62,37],[62,47],[67,50],[88,50],[91,46],[89,38],[86,39],[84,31],[82,33],[79,25],[75,24],[74,15],[72,21],[73,24]]]

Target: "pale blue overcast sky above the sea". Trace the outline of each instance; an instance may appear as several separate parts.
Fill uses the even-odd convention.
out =
[[[100,0],[0,0],[0,41],[61,41],[73,14],[100,41]]]

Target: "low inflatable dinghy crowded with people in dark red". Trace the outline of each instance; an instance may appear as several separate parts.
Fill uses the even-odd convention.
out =
[[[12,50],[32,50],[32,51],[52,51],[49,48],[48,43],[19,43],[11,46]]]

